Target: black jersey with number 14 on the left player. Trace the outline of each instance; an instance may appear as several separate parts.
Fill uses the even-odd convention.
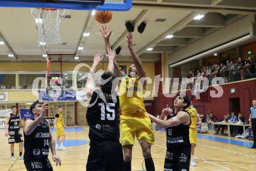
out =
[[[24,160],[31,161],[47,158],[50,141],[48,122],[44,119],[44,122],[39,123],[30,135],[24,133]]]

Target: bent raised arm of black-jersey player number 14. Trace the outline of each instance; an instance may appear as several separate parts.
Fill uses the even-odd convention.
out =
[[[24,134],[30,135],[35,130],[35,128],[37,128],[37,125],[44,119],[44,115],[46,114],[48,108],[49,108],[48,103],[42,104],[40,115],[37,118],[35,118],[34,121],[31,119],[28,119],[25,122]]]

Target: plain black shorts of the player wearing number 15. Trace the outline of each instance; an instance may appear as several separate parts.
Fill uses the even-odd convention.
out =
[[[118,143],[91,144],[86,164],[87,171],[123,170],[122,145]]]

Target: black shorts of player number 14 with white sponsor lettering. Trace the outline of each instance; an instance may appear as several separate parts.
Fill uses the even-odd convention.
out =
[[[53,171],[48,158],[35,161],[24,161],[27,171]]]

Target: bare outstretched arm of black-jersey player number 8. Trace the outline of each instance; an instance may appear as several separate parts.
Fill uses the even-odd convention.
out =
[[[187,112],[183,112],[183,111],[178,112],[176,117],[170,118],[167,121],[157,119],[151,114],[148,114],[148,116],[150,117],[150,119],[153,122],[157,123],[158,125],[162,126],[163,128],[177,126],[177,125],[180,125],[180,123],[183,123],[184,125],[189,125],[188,121],[190,121],[189,114]]]

